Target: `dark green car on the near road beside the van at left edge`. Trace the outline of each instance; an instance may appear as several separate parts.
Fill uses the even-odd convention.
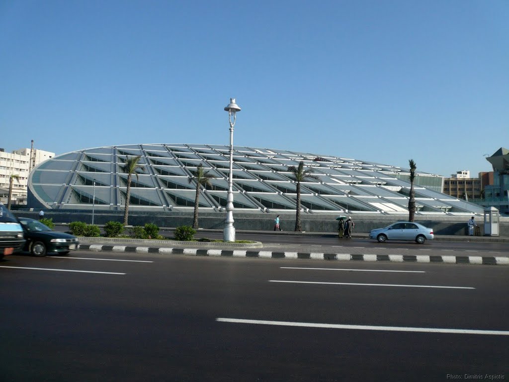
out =
[[[78,249],[79,241],[76,236],[65,232],[56,232],[41,222],[27,217],[18,217],[23,228],[26,243],[23,251],[34,256],[46,256],[49,252],[67,255]]]

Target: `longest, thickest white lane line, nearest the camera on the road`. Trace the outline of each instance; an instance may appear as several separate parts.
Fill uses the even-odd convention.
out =
[[[217,322],[231,322],[231,323],[250,323],[250,324],[258,324],[258,325],[301,326],[301,327],[305,327],[305,328],[373,330],[373,331],[388,331],[388,332],[481,334],[481,335],[509,336],[509,331],[504,331],[504,330],[412,328],[411,326],[344,325],[344,324],[334,324],[334,323],[247,320],[247,319],[220,318],[220,317],[216,318],[216,321]]]

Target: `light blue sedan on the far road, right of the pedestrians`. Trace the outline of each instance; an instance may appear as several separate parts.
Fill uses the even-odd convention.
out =
[[[370,239],[377,239],[381,243],[387,240],[415,240],[422,244],[426,240],[433,240],[433,237],[432,228],[414,222],[396,222],[370,232]]]

